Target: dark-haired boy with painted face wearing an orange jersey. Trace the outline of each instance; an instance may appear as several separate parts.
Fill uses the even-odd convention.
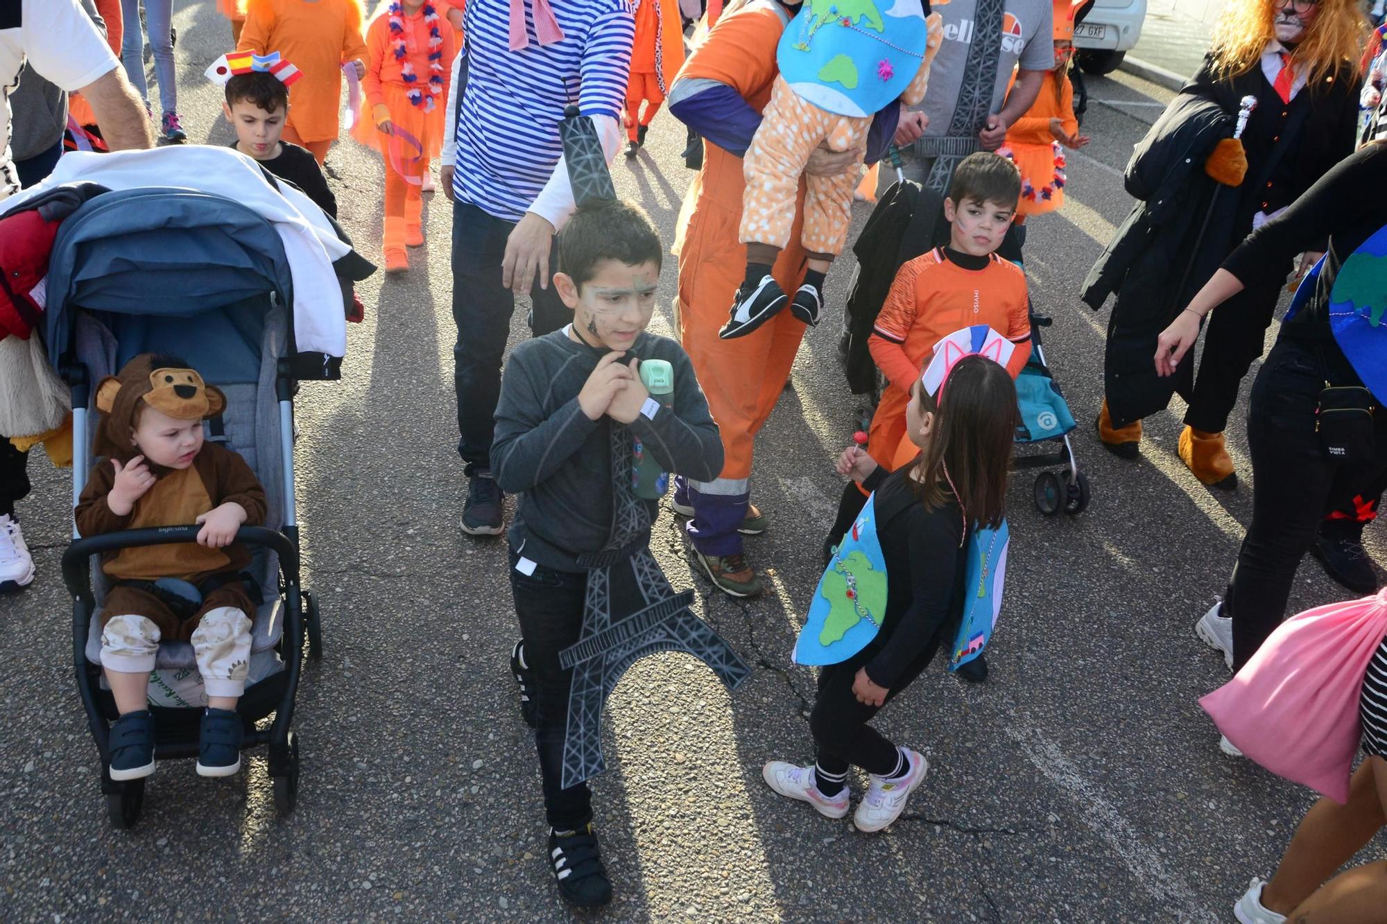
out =
[[[872,359],[890,384],[872,415],[867,452],[888,469],[910,455],[906,405],[910,388],[939,340],[963,327],[988,325],[1017,350],[1007,363],[1011,377],[1031,357],[1026,275],[994,251],[1001,246],[1017,203],[1021,175],[1015,164],[979,151],[954,171],[945,218],[949,243],[902,265],[867,340]]]

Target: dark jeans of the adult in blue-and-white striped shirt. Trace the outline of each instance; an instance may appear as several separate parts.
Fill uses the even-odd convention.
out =
[[[458,341],[452,348],[452,383],[458,393],[458,454],[469,477],[491,468],[491,440],[497,400],[501,397],[501,359],[510,336],[515,294],[501,284],[501,259],[515,223],[495,218],[470,203],[452,208],[452,319]],[[549,251],[551,272],[556,253]],[[553,282],[530,289],[530,330],[534,336],[558,330],[573,319]]]

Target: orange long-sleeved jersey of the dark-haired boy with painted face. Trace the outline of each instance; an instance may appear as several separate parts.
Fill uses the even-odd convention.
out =
[[[906,405],[935,344],[963,327],[988,325],[1017,344],[1007,370],[1015,379],[1031,357],[1026,275],[990,255],[983,269],[964,269],[935,248],[907,261],[896,273],[886,302],[867,340],[877,368],[890,384],[871,418],[867,454],[888,469],[914,458],[906,437]],[[903,443],[906,445],[903,445]]]

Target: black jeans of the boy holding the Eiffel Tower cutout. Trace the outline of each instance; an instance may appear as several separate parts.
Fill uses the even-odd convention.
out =
[[[592,820],[592,791],[587,782],[562,788],[563,737],[569,721],[571,670],[559,666],[559,652],[578,641],[587,573],[556,572],[535,566],[531,574],[516,570],[520,556],[510,552],[510,591],[515,594],[524,659],[530,667],[537,712],[534,730],[544,780],[544,813],[558,831],[580,828]]]

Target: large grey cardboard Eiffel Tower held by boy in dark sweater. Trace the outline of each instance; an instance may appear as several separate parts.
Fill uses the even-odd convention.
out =
[[[616,198],[606,155],[592,119],[570,105],[559,122],[563,157],[578,208]],[[563,741],[565,788],[606,769],[602,759],[602,706],[626,669],[660,651],[694,655],[731,688],[750,674],[746,663],[694,615],[694,592],[675,594],[645,545],[651,512],[632,491],[631,472],[616,463],[630,459],[634,437],[612,423],[612,533],[606,547],[580,558],[588,569],[583,634],[559,653],[569,685],[569,719]],[[632,544],[641,547],[631,554]]]

